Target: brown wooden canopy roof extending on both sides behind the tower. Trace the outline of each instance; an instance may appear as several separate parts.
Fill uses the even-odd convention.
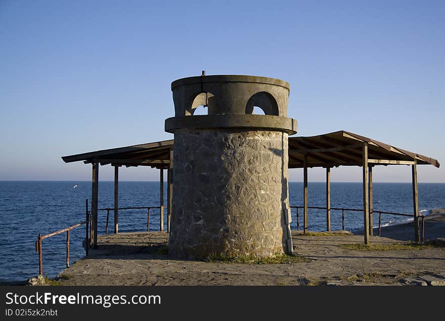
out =
[[[336,131],[310,137],[289,137],[289,168],[362,166],[362,147],[368,144],[370,165],[430,164],[439,167],[437,160],[393,147],[348,131]],[[84,161],[101,165],[151,166],[168,168],[173,140],[113,148],[62,157],[66,163]]]

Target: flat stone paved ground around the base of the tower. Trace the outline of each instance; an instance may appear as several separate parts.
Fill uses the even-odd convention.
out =
[[[443,223],[443,222],[440,222]],[[436,226],[437,227],[437,226]],[[441,233],[440,226],[438,233]],[[445,248],[356,251],[340,244],[363,236],[305,236],[292,233],[294,252],[304,261],[282,264],[211,263],[165,255],[165,232],[100,237],[87,259],[60,273],[63,285],[441,285]],[[402,242],[371,237],[376,244]],[[66,280],[64,280],[66,279]]]

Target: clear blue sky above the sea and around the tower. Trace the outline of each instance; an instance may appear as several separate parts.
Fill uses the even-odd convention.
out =
[[[443,1],[0,0],[0,180],[90,180],[91,165],[60,157],[172,139],[170,83],[201,70],[288,81],[297,135],[348,130],[445,167]],[[443,168],[418,171],[445,182]],[[360,181],[361,170],[332,180]],[[374,180],[411,171],[379,167]]]

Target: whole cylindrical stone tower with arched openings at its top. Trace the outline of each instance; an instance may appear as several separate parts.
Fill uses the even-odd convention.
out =
[[[175,117],[168,252],[267,257],[292,253],[288,194],[289,83],[243,75],[171,84]],[[193,115],[204,105],[208,115]],[[264,115],[252,114],[254,107]]]

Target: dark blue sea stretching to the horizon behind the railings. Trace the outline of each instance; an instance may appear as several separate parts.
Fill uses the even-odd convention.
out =
[[[77,186],[77,187],[75,187]],[[74,188],[75,187],[75,188]],[[166,187],[166,184],[164,184]],[[114,206],[113,182],[99,182],[99,208]],[[301,182],[290,182],[290,204],[303,204]],[[412,186],[405,183],[374,183],[374,210],[411,214],[413,212]],[[166,197],[167,192],[164,191]],[[0,181],[0,282],[23,281],[38,274],[38,255],[35,241],[38,234],[48,234],[85,219],[85,199],[91,200],[91,182],[88,181]],[[164,205],[167,204],[166,199]],[[326,205],[325,184],[309,182],[308,205]],[[158,182],[119,182],[119,207],[159,206]],[[362,184],[331,184],[331,206],[362,207]],[[445,184],[419,184],[419,210],[445,207]],[[302,211],[301,211],[302,212]],[[166,210],[164,218],[166,220]],[[99,212],[99,233],[105,234],[106,211]],[[311,231],[326,229],[326,211],[309,209],[308,225]],[[383,224],[396,224],[407,217],[383,215]],[[296,230],[296,210],[292,209],[292,230]],[[378,224],[374,215],[373,225]],[[113,213],[110,213],[109,231],[113,232]],[[166,226],[166,221],[164,222]],[[302,216],[300,216],[302,226]],[[331,213],[332,230],[341,230],[341,211]],[[119,212],[119,232],[145,231],[146,210]],[[361,212],[346,212],[345,229],[363,228]],[[159,210],[151,210],[150,230],[159,230]],[[71,231],[71,264],[84,256],[82,240],[84,225]],[[55,277],[65,268],[66,233],[42,241],[43,275]]]

